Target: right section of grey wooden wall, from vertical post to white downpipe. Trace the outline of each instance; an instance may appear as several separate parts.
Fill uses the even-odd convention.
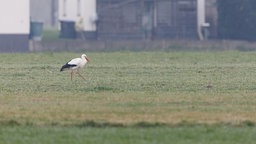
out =
[[[198,39],[197,0],[158,0],[155,34],[166,39]]]

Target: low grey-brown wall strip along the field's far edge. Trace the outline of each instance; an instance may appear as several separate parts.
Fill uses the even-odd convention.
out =
[[[256,43],[247,41],[193,41],[193,40],[118,40],[118,41],[31,41],[30,51],[147,51],[147,50],[239,50],[255,51]]]

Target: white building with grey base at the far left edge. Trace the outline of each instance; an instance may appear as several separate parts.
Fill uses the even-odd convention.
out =
[[[29,0],[0,0],[0,51],[28,50]]]

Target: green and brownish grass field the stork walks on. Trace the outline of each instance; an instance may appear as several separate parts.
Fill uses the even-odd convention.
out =
[[[254,143],[256,52],[0,54],[4,143]]]

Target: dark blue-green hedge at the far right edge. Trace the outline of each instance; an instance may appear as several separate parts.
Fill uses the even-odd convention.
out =
[[[218,36],[256,40],[256,0],[217,0]]]

